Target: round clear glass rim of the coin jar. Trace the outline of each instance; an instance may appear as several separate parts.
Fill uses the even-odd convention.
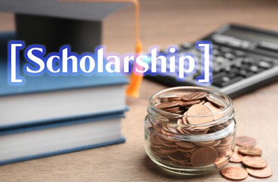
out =
[[[176,113],[169,113],[167,111],[163,111],[162,109],[159,109],[158,107],[155,106],[155,103],[153,102],[155,100],[155,97],[158,97],[158,95],[162,94],[162,93],[165,93],[165,92],[169,92],[169,91],[174,91],[174,90],[200,90],[200,91],[205,91],[205,92],[214,92],[218,95],[220,95],[221,97],[225,98],[228,100],[228,106],[225,106],[223,108],[222,111],[220,112],[217,112],[217,113],[211,113],[209,115],[204,115],[204,116],[197,116],[197,115],[181,115],[181,114],[176,114]],[[230,111],[230,109],[232,109],[232,99],[226,95],[226,94],[223,94],[221,92],[218,92],[216,90],[212,90],[212,89],[209,89],[207,87],[195,87],[195,86],[180,86],[180,87],[170,87],[170,88],[167,88],[167,89],[164,89],[164,90],[160,90],[158,92],[155,92],[155,94],[153,94],[150,99],[148,99],[148,102],[149,102],[149,105],[151,106],[151,108],[155,109],[156,111],[160,112],[160,113],[164,113],[164,114],[167,114],[168,116],[173,116],[173,117],[176,117],[176,118],[181,118],[183,116],[187,116],[187,117],[192,117],[192,118],[207,118],[207,117],[213,117],[213,116],[217,116],[217,115],[221,115],[223,114],[223,116],[225,116],[225,113],[227,113],[228,111]],[[203,124],[199,124],[199,125],[192,125],[192,126],[195,126],[195,127],[201,127],[201,126],[206,126],[206,125],[211,125],[211,124],[215,124],[215,123],[218,123],[218,121],[216,122],[217,120],[214,120],[212,122],[209,122],[209,123],[203,123]],[[190,124],[188,124],[190,125]]]

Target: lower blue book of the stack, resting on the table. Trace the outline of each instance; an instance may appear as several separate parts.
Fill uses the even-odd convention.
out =
[[[125,142],[123,113],[0,130],[0,165]]]

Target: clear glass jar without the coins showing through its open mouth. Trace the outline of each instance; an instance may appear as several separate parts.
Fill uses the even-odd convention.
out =
[[[211,123],[179,125],[183,115],[167,113],[155,107],[165,94],[205,91],[225,104]],[[195,117],[195,116],[192,116]],[[210,117],[210,116],[207,116]],[[146,153],[163,169],[176,174],[198,175],[216,172],[228,163],[235,150],[236,123],[229,97],[202,87],[174,87],[158,92],[150,99],[145,118]]]

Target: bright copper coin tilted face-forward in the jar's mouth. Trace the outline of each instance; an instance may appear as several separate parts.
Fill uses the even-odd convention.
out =
[[[202,104],[190,106],[190,108],[187,111],[187,115],[188,117],[186,119],[188,120],[188,123],[190,123],[191,125],[200,125],[202,123],[209,123],[214,120],[213,116],[207,116],[211,115],[211,111],[207,106],[204,106]]]

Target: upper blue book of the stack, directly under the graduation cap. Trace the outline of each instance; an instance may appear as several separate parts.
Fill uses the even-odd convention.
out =
[[[0,34],[0,129],[69,118],[102,116],[125,110],[127,78],[114,76],[25,77],[25,85],[8,84],[6,47],[15,34]],[[2,51],[4,50],[4,51]],[[20,60],[20,62],[24,60]]]

